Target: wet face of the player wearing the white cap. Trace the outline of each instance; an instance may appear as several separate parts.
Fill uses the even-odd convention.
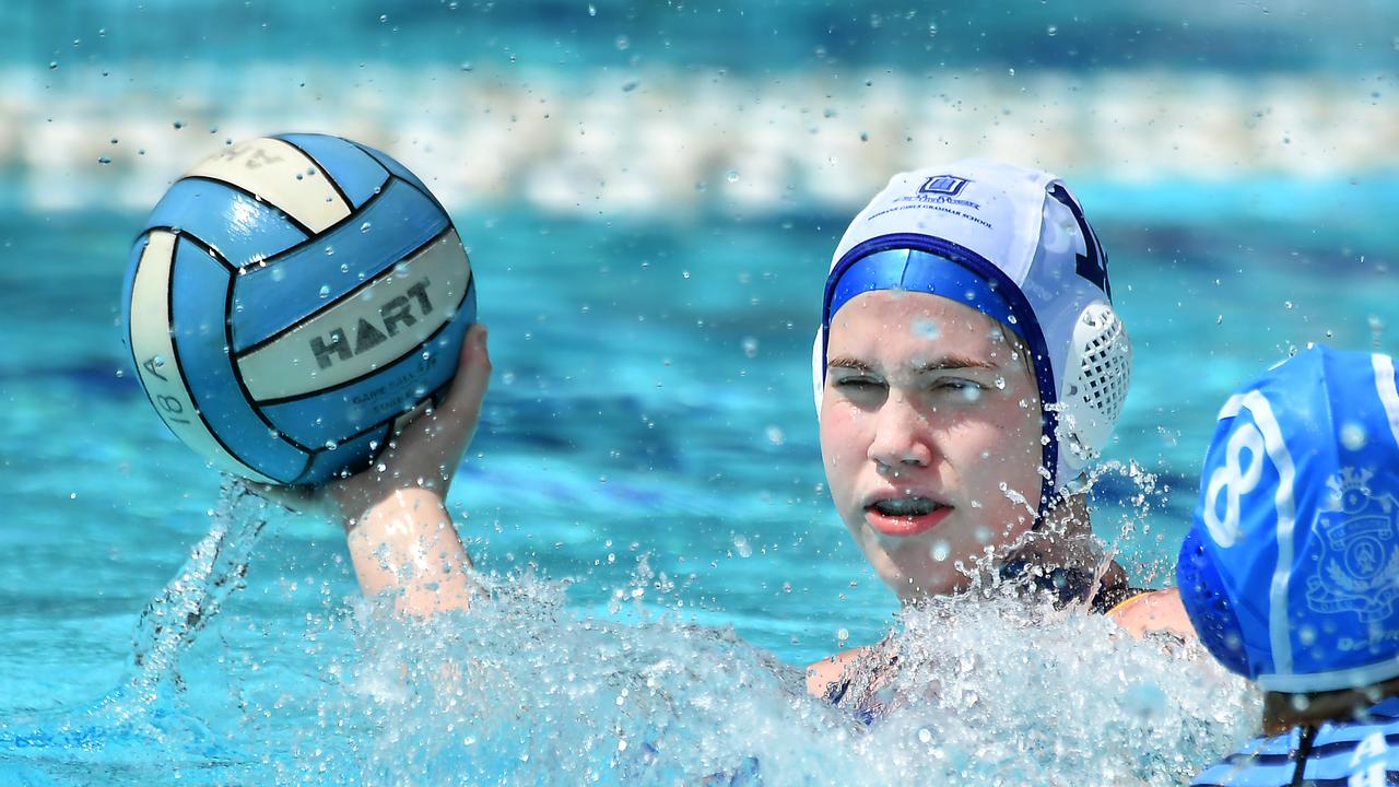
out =
[[[1039,395],[999,322],[925,293],[852,298],[830,328],[821,455],[835,507],[902,598],[954,592],[1039,507]]]

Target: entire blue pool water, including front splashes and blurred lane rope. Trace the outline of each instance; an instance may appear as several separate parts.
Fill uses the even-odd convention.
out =
[[[1227,392],[1308,342],[1399,351],[1395,13],[1178,6],[0,10],[0,784],[1185,780],[1255,697],[1072,612],[895,618],[809,371],[890,172],[1059,169],[1136,347],[1095,529],[1168,583]],[[334,527],[221,489],[125,365],[143,210],[291,129],[403,158],[470,248],[495,378],[449,503],[498,591],[470,616],[364,602]],[[895,625],[886,723],[804,697],[800,665]]]

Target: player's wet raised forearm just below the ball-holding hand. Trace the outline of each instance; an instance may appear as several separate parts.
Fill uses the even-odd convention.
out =
[[[351,524],[346,542],[367,597],[392,592],[397,612],[418,616],[470,606],[471,559],[436,493],[390,493]]]

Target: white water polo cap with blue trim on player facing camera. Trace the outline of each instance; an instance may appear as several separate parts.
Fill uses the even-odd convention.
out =
[[[818,412],[831,318],[873,290],[951,298],[1024,342],[1044,409],[1041,510],[1102,451],[1132,344],[1112,311],[1107,255],[1062,181],[978,158],[894,175],[831,259],[813,351]]]

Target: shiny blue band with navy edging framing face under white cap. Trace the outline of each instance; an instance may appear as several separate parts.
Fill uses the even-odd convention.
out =
[[[881,255],[890,251],[908,253]],[[898,267],[900,256],[904,256],[904,269],[895,276],[894,269]],[[873,262],[863,265],[865,259]],[[849,284],[845,283],[848,273],[856,276]],[[968,287],[968,283],[974,284]],[[986,258],[960,244],[916,232],[880,235],[845,252],[825,279],[825,298],[821,305],[821,377],[825,377],[828,360],[831,316],[860,293],[894,288],[942,295],[965,304],[996,319],[1028,346],[1035,368],[1035,384],[1039,388],[1041,433],[1049,438],[1042,455],[1048,478],[1039,490],[1039,515],[1044,517],[1059,476],[1059,441],[1055,438],[1059,416],[1048,408],[1059,401],[1053,364],[1049,361],[1039,319],[1025,294],[1004,270]]]

